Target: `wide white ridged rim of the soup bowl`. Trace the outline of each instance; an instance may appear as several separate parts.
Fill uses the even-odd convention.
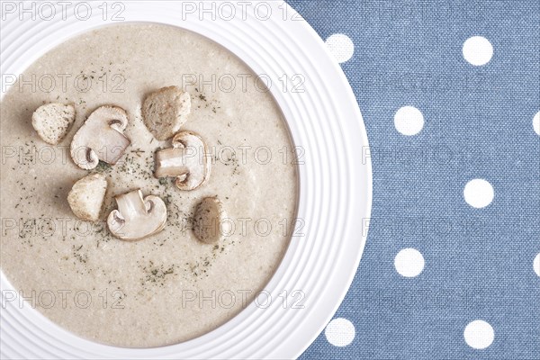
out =
[[[19,3],[19,2],[16,2]],[[31,2],[26,2],[27,6]],[[54,4],[54,2],[52,2]],[[226,21],[201,19],[202,2],[122,1],[126,22],[165,23],[200,33],[244,60],[257,74],[271,80],[271,92],[284,112],[296,146],[305,149],[300,166],[298,218],[305,220],[305,236],[293,237],[284,260],[266,291],[273,299],[286,290],[305,293],[304,309],[283,308],[272,302],[266,309],[250,304],[234,319],[200,338],[168,347],[133,349],[96,344],[59,328],[30,306],[0,309],[2,358],[295,358],[311,345],[327,325],[356,274],[367,236],[372,203],[372,170],[364,122],[355,95],[337,61],[308,23],[282,1],[228,2],[236,16]],[[211,7],[212,2],[204,2]],[[244,3],[244,4],[240,4]],[[260,3],[265,3],[258,5]],[[103,23],[97,6],[86,21],[67,18],[20,21],[8,14],[1,23],[0,71],[20,74],[31,62],[67,38]],[[220,2],[215,2],[220,5]],[[259,6],[259,7],[257,7]],[[270,15],[267,20],[265,10]],[[255,8],[263,14],[257,18]],[[246,9],[244,12],[243,9]],[[286,18],[286,20],[284,20]],[[280,76],[306,77],[303,94],[283,92]],[[279,85],[279,86],[277,86]],[[2,93],[4,95],[4,92]],[[14,290],[4,274],[4,291]],[[264,300],[264,298],[262,299]],[[14,302],[15,303],[15,302]],[[3,298],[4,304],[4,298]]]

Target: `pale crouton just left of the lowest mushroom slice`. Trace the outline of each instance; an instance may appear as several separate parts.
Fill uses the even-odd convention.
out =
[[[90,174],[78,180],[67,195],[69,207],[76,217],[97,221],[103,209],[107,180],[103,174]]]

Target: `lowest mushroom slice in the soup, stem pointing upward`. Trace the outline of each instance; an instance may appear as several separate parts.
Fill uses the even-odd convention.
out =
[[[111,211],[107,219],[109,230],[115,237],[138,240],[165,228],[166,205],[161,198],[154,195],[143,198],[139,189],[115,199],[118,210]]]

